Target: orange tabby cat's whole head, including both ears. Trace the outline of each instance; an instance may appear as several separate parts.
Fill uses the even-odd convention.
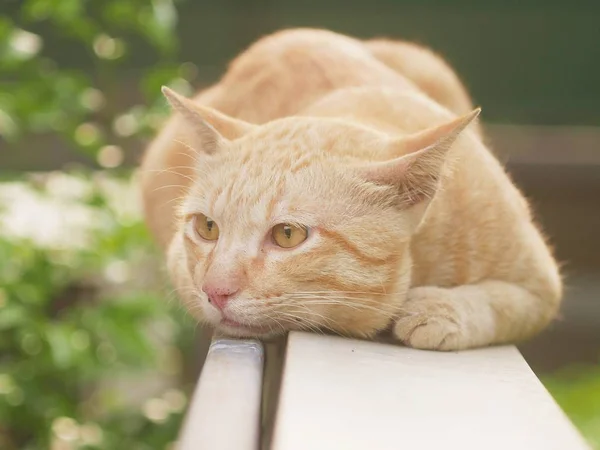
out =
[[[447,150],[479,111],[390,137],[334,119],[251,125],[163,91],[197,149],[169,258],[190,311],[238,336],[385,328]]]

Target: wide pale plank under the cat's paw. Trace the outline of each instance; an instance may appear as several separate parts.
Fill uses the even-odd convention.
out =
[[[515,347],[291,333],[272,450],[588,448]]]

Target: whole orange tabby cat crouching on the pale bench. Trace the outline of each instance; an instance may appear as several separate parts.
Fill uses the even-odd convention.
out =
[[[557,263],[452,69],[414,44],[291,29],[173,116],[141,187],[172,281],[233,336],[460,350],[556,316]]]

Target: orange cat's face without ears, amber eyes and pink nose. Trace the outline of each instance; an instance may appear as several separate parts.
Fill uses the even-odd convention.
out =
[[[195,309],[230,334],[369,334],[406,288],[408,225],[389,189],[352,176],[301,125],[293,142],[265,127],[202,158],[182,205]]]

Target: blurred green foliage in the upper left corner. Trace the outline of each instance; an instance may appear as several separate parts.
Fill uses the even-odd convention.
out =
[[[119,165],[120,146],[164,117],[160,86],[188,87],[174,60],[176,24],[173,0],[24,0],[17,13],[0,14],[0,136],[57,134],[100,165]],[[67,66],[57,48],[93,70]],[[136,53],[153,60],[125,71]],[[125,73],[143,104],[123,103]],[[109,157],[99,156],[107,146]]]

